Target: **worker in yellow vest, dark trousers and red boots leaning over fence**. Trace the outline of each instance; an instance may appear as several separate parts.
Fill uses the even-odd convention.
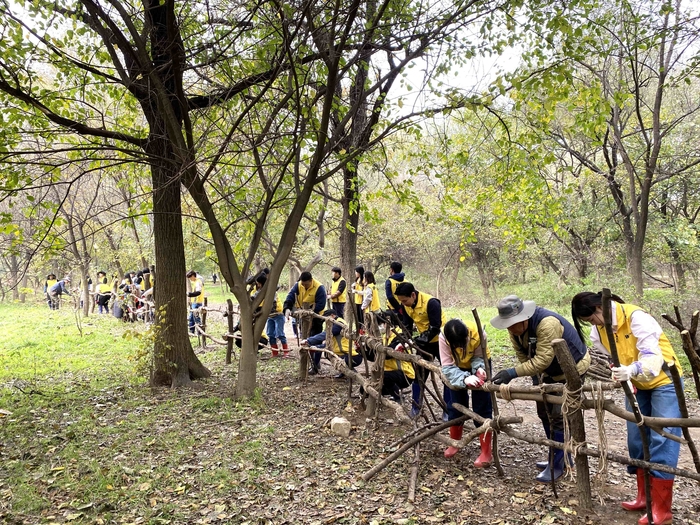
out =
[[[486,334],[484,333],[484,347],[487,359],[490,360],[491,352],[486,343]],[[454,408],[454,403],[469,408],[468,389],[481,387],[486,379],[481,337],[479,337],[476,323],[473,321],[464,323],[460,319],[447,321],[440,334],[439,344],[442,373],[445,374],[450,382],[450,388],[453,389],[452,399],[447,404],[447,415],[450,419],[456,419],[462,414]],[[491,394],[483,390],[472,390],[472,408],[481,417],[491,419],[493,415]],[[462,423],[451,426],[450,437],[457,441],[462,439],[463,428]],[[493,433],[491,431],[479,434],[481,453],[474,462],[476,468],[487,467],[493,462],[492,443]],[[447,447],[445,457],[451,458],[457,452],[459,452],[458,448]]]

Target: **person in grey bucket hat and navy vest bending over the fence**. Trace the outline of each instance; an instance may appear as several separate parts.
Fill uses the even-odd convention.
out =
[[[494,328],[507,329],[510,342],[515,349],[520,364],[514,368],[499,371],[493,377],[493,384],[508,384],[516,377],[532,376],[534,385],[545,383],[566,383],[564,372],[557,360],[552,341],[564,339],[576,370],[582,376],[591,365],[591,356],[586,345],[569,321],[558,313],[537,306],[534,301],[523,301],[516,295],[509,295],[498,303],[498,315],[491,319]],[[564,419],[561,405],[537,402],[537,415],[542,421],[548,438],[564,442]],[[550,450],[551,461],[538,461],[537,468],[543,469],[536,481],[550,483],[564,474],[564,451]]]

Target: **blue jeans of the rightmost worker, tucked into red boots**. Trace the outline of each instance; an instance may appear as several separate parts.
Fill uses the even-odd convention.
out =
[[[664,373],[663,371],[661,372]],[[651,417],[681,417],[680,408],[678,408],[678,398],[673,384],[668,384],[654,388],[652,390],[637,389],[637,404],[639,411],[643,416]],[[632,411],[632,407],[628,402],[627,410]],[[627,422],[627,448],[629,449],[630,457],[633,459],[644,459],[644,450],[642,448],[642,437],[639,433],[639,428],[636,423]],[[661,463],[669,467],[678,465],[678,454],[681,449],[681,444],[657,434],[653,430],[641,427],[643,432],[646,432],[647,440],[649,441],[649,455],[652,463]],[[665,432],[674,436],[681,435],[680,427],[665,427]],[[630,474],[637,472],[637,467],[628,466],[627,471]],[[652,470],[651,475],[655,478],[673,479],[673,474]]]

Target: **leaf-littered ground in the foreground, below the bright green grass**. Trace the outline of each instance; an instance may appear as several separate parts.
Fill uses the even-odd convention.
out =
[[[196,390],[150,390],[143,385],[66,375],[41,393],[5,389],[14,410],[3,414],[0,519],[24,523],[236,524],[634,524],[619,501],[634,480],[610,464],[602,502],[580,509],[572,480],[535,483],[541,447],[501,437],[506,471],[475,469],[478,441],[451,460],[425,441],[416,501],[406,498],[412,454],[365,483],[361,474],[386,457],[407,430],[382,412],[366,419],[348,387],[327,364],[306,383],[296,360],[261,359],[260,392],[232,399],[237,362],[223,365],[221,349],[198,350],[213,372]],[[496,360],[498,361],[498,359]],[[498,366],[499,363],[496,363]],[[519,380],[526,381],[526,380]],[[357,386],[353,389],[357,395]],[[618,403],[621,398],[617,398]],[[5,403],[3,406],[6,406]],[[540,435],[532,402],[506,404],[522,429]],[[691,414],[698,413],[691,401]],[[331,433],[344,416],[349,438]],[[586,413],[588,437],[597,440]],[[606,418],[608,446],[624,452],[625,426]],[[698,434],[694,432],[698,437]],[[596,460],[591,461],[593,472]],[[692,469],[686,450],[681,466]],[[674,523],[700,524],[698,484],[678,480]]]

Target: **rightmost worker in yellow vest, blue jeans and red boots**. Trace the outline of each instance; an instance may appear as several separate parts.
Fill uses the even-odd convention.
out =
[[[682,373],[680,363],[671,343],[656,320],[638,306],[625,304],[613,295],[610,303],[612,329],[615,334],[620,366],[612,369],[615,381],[631,381],[635,387],[635,397],[643,416],[680,418],[678,397],[666,363],[675,363],[678,373]],[[603,301],[601,293],[581,292],[571,301],[571,315],[581,341],[585,341],[582,323],[591,325],[590,338],[595,348],[610,352],[610,343],[603,321]],[[629,404],[627,410],[631,411]],[[627,448],[630,457],[643,459],[642,439],[635,423],[627,423]],[[678,465],[680,444],[644,427],[647,434],[652,463],[670,467]],[[664,428],[669,434],[681,436],[679,427]],[[644,474],[642,469],[627,467],[630,474],[637,475],[637,497],[625,501],[625,510],[644,510]],[[671,500],[673,497],[673,474],[651,471],[651,513],[656,525],[671,523]],[[646,514],[637,522],[648,523]]]

